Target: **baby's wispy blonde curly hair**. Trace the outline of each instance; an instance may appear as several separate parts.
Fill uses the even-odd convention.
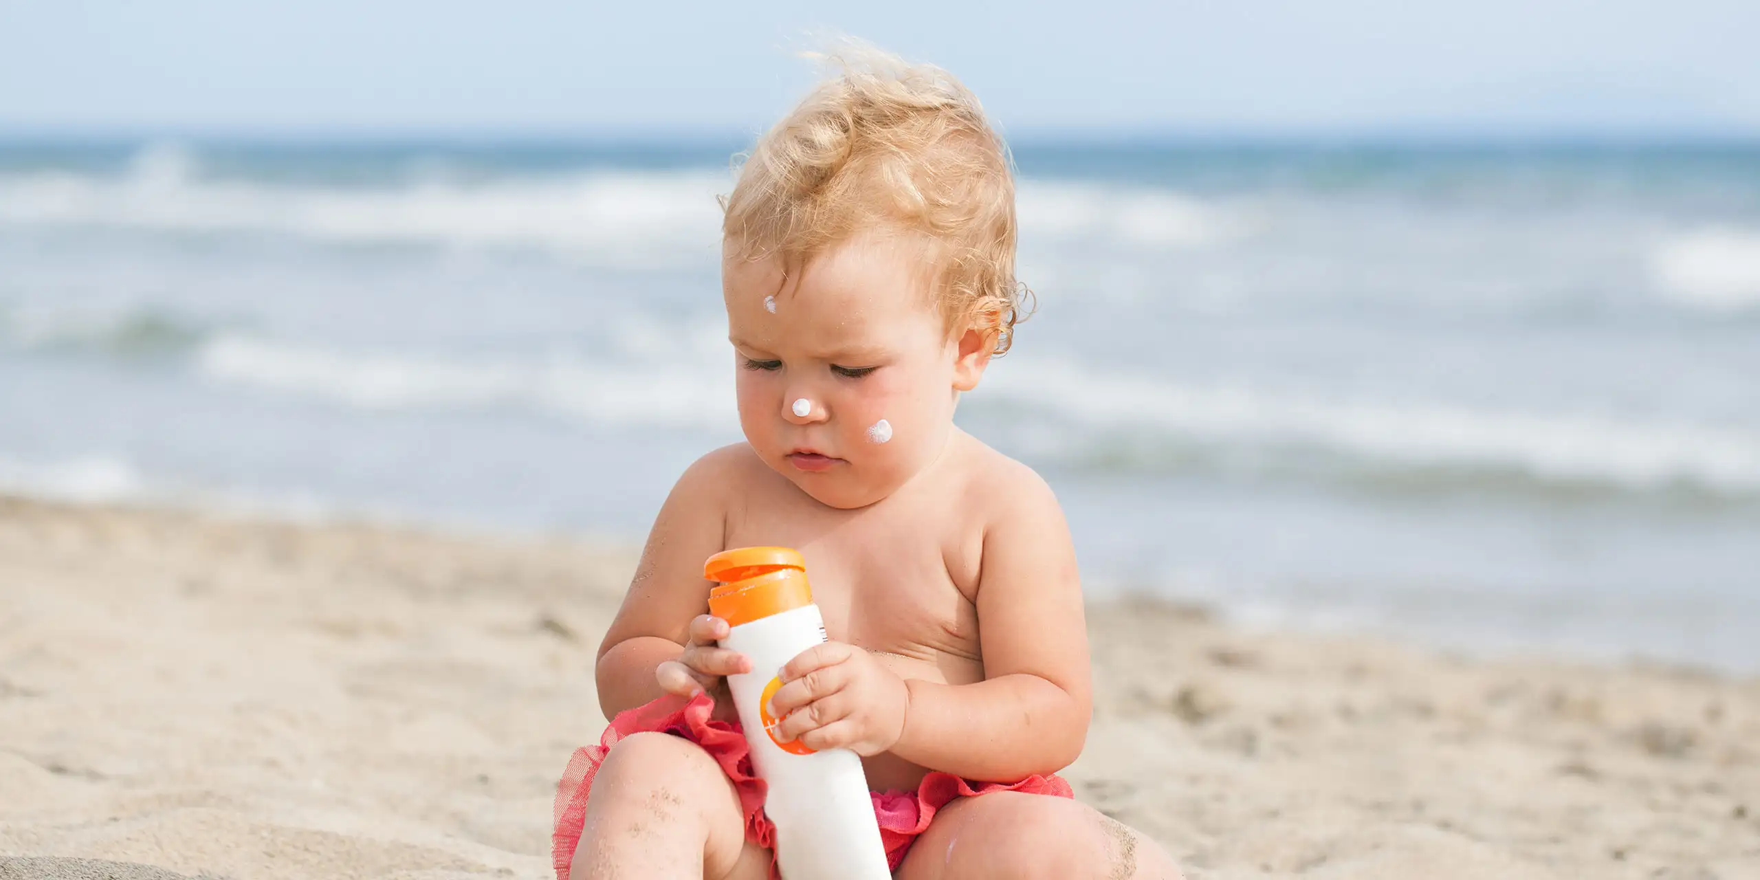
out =
[[[952,74],[864,44],[818,55],[832,76],[766,132],[722,199],[730,259],[796,268],[889,227],[926,243],[949,333],[1014,341],[1031,292],[1014,276],[1008,148]]]

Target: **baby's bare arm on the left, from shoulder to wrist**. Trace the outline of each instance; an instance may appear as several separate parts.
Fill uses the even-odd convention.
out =
[[[711,584],[702,579],[702,560],[723,549],[723,500],[736,470],[732,454],[732,449],[722,449],[697,459],[655,517],[630,591],[598,646],[595,681],[605,718],[642,706],[674,690],[672,685],[688,686],[688,681],[678,681],[664,688],[655,669],[679,658],[692,644],[692,620],[709,611]],[[725,667],[716,674],[741,671],[734,669],[741,658],[734,651],[699,653],[699,665]],[[676,667],[672,672],[685,676]]]

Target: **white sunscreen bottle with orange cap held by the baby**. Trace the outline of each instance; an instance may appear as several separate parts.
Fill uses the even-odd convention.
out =
[[[778,720],[764,711],[781,686],[776,672],[825,641],[806,561],[788,547],[741,547],[716,553],[702,570],[720,583],[709,612],[732,627],[722,648],[752,658],[752,672],[727,676],[727,686],[752,743],[752,769],[769,790],[764,813],[776,824],[783,880],[891,880],[862,759],[847,748],[778,743]]]

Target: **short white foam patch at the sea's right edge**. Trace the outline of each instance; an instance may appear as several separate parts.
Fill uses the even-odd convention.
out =
[[[1651,271],[1663,296],[1705,312],[1760,308],[1760,231],[1714,227],[1656,248]]]

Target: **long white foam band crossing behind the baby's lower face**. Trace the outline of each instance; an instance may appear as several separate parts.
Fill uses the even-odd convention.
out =
[[[1540,484],[1621,489],[1697,486],[1760,493],[1760,433],[1603,414],[1533,414],[1448,403],[1329,400],[1236,385],[1140,380],[1077,364],[1010,363],[977,407],[1047,414],[1058,444],[1114,433],[1271,456],[1339,456],[1371,472],[1524,473]],[[195,368],[218,384],[364,410],[516,410],[584,424],[736,429],[725,364],[595,363],[347,352],[238,334],[206,343]],[[1033,424],[1049,424],[1033,419]],[[1023,426],[1023,429],[1031,424]]]

